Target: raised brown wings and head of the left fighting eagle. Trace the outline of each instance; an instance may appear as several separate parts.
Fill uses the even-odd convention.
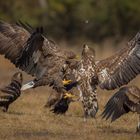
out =
[[[59,73],[64,61],[75,54],[60,50],[42,32],[42,28],[0,22],[0,54],[37,78]]]

